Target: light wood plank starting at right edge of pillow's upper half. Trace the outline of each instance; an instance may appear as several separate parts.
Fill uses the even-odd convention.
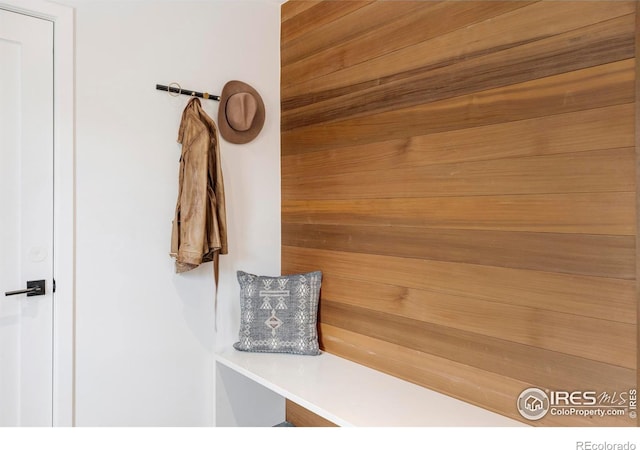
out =
[[[370,336],[402,347],[448,358],[462,364],[471,365],[495,373],[509,373],[511,377],[536,382],[551,388],[560,388],[567,380],[583,385],[597,377],[596,368],[610,375],[612,368],[618,368],[620,374],[628,374],[635,367],[635,355],[629,356],[624,348],[608,349],[603,352],[591,352],[590,357],[576,356],[570,353],[554,352],[544,348],[523,345],[468,331],[420,322],[368,309],[343,306],[331,301],[322,300],[320,306],[321,322],[354,333]],[[324,342],[325,335],[322,335]],[[614,353],[611,353],[613,350]],[[544,359],[532,358],[544,356]],[[563,361],[564,367],[551,368],[555,361]],[[541,365],[532,367],[535,362]],[[574,364],[589,375],[584,381],[575,371]],[[562,365],[562,364],[560,364]],[[546,374],[543,372],[547,372]],[[571,373],[571,375],[568,375]],[[616,372],[617,373],[617,372]],[[562,378],[564,377],[564,378]],[[626,378],[625,378],[626,379]],[[600,386],[613,380],[602,379]],[[627,385],[628,386],[628,385]],[[620,386],[618,386],[620,387]],[[628,387],[627,387],[628,388]]]

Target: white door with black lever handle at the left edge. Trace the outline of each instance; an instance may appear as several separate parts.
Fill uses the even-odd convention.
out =
[[[52,425],[52,333],[53,23],[0,10],[0,426]]]

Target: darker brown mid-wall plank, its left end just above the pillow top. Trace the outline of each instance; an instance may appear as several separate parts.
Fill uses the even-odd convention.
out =
[[[632,236],[288,223],[282,232],[295,247],[635,279]]]

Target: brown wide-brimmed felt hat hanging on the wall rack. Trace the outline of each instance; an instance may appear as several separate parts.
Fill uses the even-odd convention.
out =
[[[254,88],[242,81],[229,81],[222,88],[218,129],[233,144],[252,141],[264,125],[264,102]]]

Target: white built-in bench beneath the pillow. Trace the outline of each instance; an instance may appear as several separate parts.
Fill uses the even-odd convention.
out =
[[[258,411],[259,403],[275,396],[276,402],[282,399],[282,407],[278,406],[276,418],[271,419],[273,425],[278,417],[284,420],[286,398],[343,427],[526,426],[330,353],[299,356],[229,349],[216,354],[216,365],[218,407],[243,415],[247,411],[240,411],[241,403],[245,409]],[[237,374],[246,380],[237,387],[241,392],[234,394],[229,384],[235,382],[229,383],[229,378]],[[254,395],[246,393],[251,383],[268,392],[247,398]],[[234,424],[256,425],[249,422]]]

